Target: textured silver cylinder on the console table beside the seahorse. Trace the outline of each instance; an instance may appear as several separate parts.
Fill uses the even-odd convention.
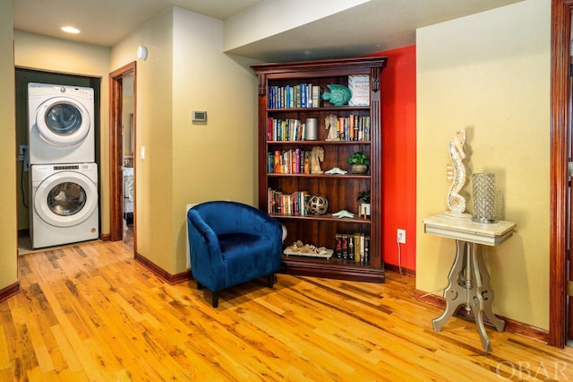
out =
[[[472,175],[474,198],[473,221],[495,222],[495,174],[483,172]]]

